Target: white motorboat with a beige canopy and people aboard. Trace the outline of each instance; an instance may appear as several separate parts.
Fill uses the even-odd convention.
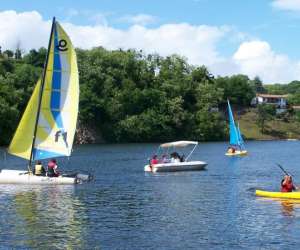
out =
[[[161,144],[155,155],[155,162],[150,160],[149,164],[144,167],[145,172],[177,172],[177,171],[195,171],[205,169],[207,163],[204,161],[189,161],[189,158],[195,151],[198,142],[196,141],[176,141]],[[193,146],[186,158],[180,156],[175,149]],[[170,150],[173,152],[168,158]],[[161,152],[161,153],[160,153]],[[160,153],[160,154],[159,154]]]

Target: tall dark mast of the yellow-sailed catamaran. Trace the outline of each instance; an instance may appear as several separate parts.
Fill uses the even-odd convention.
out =
[[[29,162],[28,162],[28,171],[29,172],[31,172],[31,165],[32,165],[32,159],[33,159],[33,149],[34,149],[34,144],[35,144],[35,139],[36,139],[38,121],[39,121],[39,117],[40,117],[42,96],[43,96],[43,90],[44,90],[44,86],[45,86],[45,78],[46,78],[46,72],[47,72],[47,67],[48,67],[49,53],[50,53],[50,49],[51,49],[51,41],[52,41],[52,36],[53,36],[53,32],[54,32],[54,25],[55,25],[55,17],[53,17],[53,19],[52,19],[51,34],[50,34],[50,38],[49,38],[48,51],[47,51],[47,56],[46,56],[46,62],[44,64],[43,78],[42,78],[41,88],[40,88],[40,93],[39,93],[37,116],[36,116],[36,121],[35,121],[35,126],[34,126],[34,133],[33,133],[33,138],[32,138],[30,159],[29,159]]]

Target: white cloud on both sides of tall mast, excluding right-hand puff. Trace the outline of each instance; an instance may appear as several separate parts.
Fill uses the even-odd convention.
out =
[[[50,22],[44,21],[35,11],[0,12],[0,44],[3,48],[13,49],[20,41],[26,51],[47,46]],[[66,22],[62,25],[76,47],[136,48],[163,56],[177,53],[187,57],[190,63],[206,65],[219,60],[216,44],[230,30],[226,26],[193,26],[187,23],[165,24],[154,29],[133,25],[127,30],[103,24],[79,26]]]

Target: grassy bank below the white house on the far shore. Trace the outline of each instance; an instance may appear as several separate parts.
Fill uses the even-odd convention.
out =
[[[300,123],[295,119],[284,121],[276,119],[266,121],[265,132],[261,133],[258,127],[257,110],[246,110],[242,115],[236,116],[245,139],[276,140],[276,139],[300,139]]]

